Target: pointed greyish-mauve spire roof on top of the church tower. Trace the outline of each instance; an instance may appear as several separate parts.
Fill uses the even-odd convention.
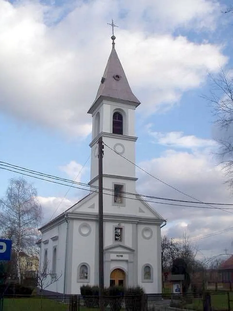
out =
[[[136,107],[140,104],[139,100],[131,91],[126,74],[114,48],[114,44],[112,45],[112,51],[108,58],[95,101],[88,113],[93,112],[93,106],[95,106],[101,96],[107,97],[108,99],[125,100],[134,104]]]

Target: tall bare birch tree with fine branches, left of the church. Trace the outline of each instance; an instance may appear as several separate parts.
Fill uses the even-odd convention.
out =
[[[0,228],[2,236],[12,240],[19,283],[20,253],[33,248],[41,214],[36,189],[23,178],[10,179],[6,196],[0,200]]]

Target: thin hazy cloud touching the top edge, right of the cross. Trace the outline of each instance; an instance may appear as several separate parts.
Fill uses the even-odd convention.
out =
[[[121,0],[119,7],[127,16],[127,26],[163,31],[176,27],[213,30],[221,12],[218,2],[206,0],[139,0],[137,4]]]

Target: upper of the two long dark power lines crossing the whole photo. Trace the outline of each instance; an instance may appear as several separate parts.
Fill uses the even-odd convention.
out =
[[[107,145],[106,145],[107,146]],[[110,147],[109,147],[110,148]],[[111,150],[113,150],[112,148],[110,148]],[[113,150],[114,151],[114,150]],[[116,151],[114,151],[116,152]],[[118,153],[117,153],[118,154]],[[125,158],[125,157],[124,157]],[[89,159],[88,159],[89,160]],[[130,161],[130,160],[129,160]],[[130,161],[131,162],[131,161]],[[134,164],[133,162],[131,162],[132,164]],[[55,176],[55,175],[51,175],[51,174],[45,174],[45,173],[42,173],[42,172],[39,172],[39,171],[35,171],[35,170],[31,170],[31,169],[27,169],[27,168],[24,168],[22,166],[18,166],[18,165],[13,165],[13,164],[10,164],[10,163],[7,163],[7,162],[3,162],[3,161],[0,161],[0,165],[2,166],[6,166],[6,167],[10,167],[10,168],[14,168],[14,169],[17,169],[17,170],[20,170],[20,171],[25,171],[25,172],[29,172],[30,174],[35,174],[35,175],[39,175],[39,176],[42,176],[42,177],[46,177],[46,178],[51,178],[51,179],[56,179],[56,180],[61,180],[63,182],[67,182],[67,183],[73,183],[73,184],[77,184],[77,185],[80,185],[82,187],[90,187],[90,185],[88,183],[81,183],[81,182],[76,182],[76,181],[73,181],[71,179],[66,179],[66,178],[61,178],[61,177],[58,177],[58,176]],[[150,174],[150,173],[148,173]],[[98,189],[98,186],[94,186],[94,185],[91,185],[92,188],[96,188]],[[83,189],[85,190],[85,189]],[[89,189],[88,189],[89,190]],[[110,191],[110,192],[114,192],[113,189],[109,189],[109,188],[103,188],[103,190],[107,190],[107,191]],[[130,195],[136,195],[137,193],[131,193],[131,192],[125,192],[125,191],[122,191],[123,194],[130,194]],[[222,205],[222,206],[233,206],[233,204],[231,203],[210,203],[210,202],[202,202],[202,201],[199,201],[199,202],[195,202],[195,201],[186,201],[186,200],[179,200],[179,199],[171,199],[171,198],[165,198],[165,197],[156,197],[156,196],[152,196],[152,195],[144,195],[144,194],[138,194],[140,197],[146,197],[146,198],[151,198],[151,199],[157,199],[157,200],[166,200],[166,201],[174,201],[174,202],[182,202],[182,203],[194,203],[194,204],[206,204],[206,205]],[[197,199],[196,199],[197,200]],[[224,209],[228,209],[228,208],[224,208]]]

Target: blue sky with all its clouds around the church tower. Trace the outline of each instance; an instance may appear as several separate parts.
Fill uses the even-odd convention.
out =
[[[225,176],[211,152],[214,117],[201,96],[208,73],[232,66],[230,1],[121,0],[6,2],[0,0],[1,158],[15,165],[73,179],[89,157],[92,104],[111,50],[116,50],[130,86],[142,102],[136,112],[137,163],[203,201],[232,202]],[[81,174],[89,181],[90,162]],[[138,172],[140,193],[187,199]],[[1,170],[0,196],[8,179]],[[67,187],[28,178],[38,190],[44,221],[56,211]],[[70,190],[55,215],[84,192]],[[190,238],[225,229],[230,214],[156,206],[164,230]],[[174,215],[175,214],[175,215]],[[205,221],[203,221],[205,219]],[[231,232],[219,235],[231,248]],[[212,255],[211,239],[198,247]]]

